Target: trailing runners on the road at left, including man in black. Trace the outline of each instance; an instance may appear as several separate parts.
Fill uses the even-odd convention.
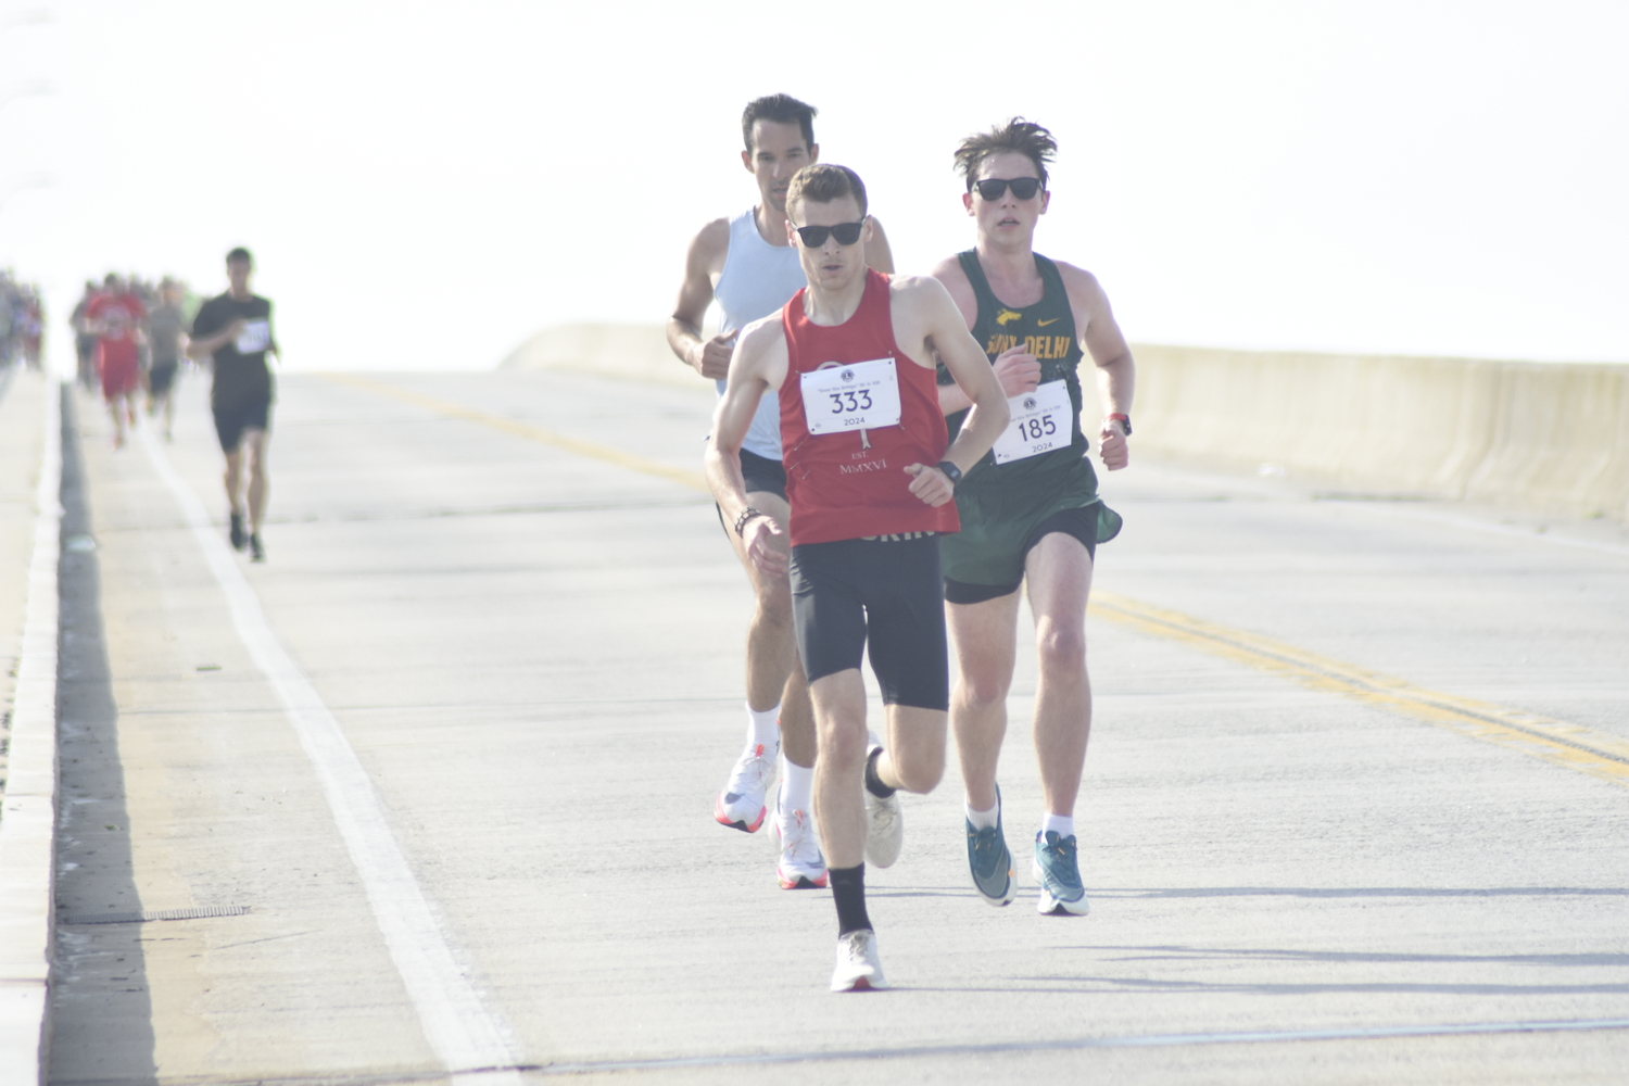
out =
[[[78,337],[80,371],[83,374],[90,363],[112,414],[114,448],[124,446],[125,427],[135,425],[135,394],[143,371],[148,414],[163,410],[165,436],[169,438],[173,388],[182,357],[210,366],[210,410],[226,458],[228,539],[235,550],[248,550],[251,560],[264,562],[261,524],[270,488],[266,454],[275,399],[266,357],[279,350],[272,303],[249,290],[252,274],[254,259],[248,249],[228,252],[226,291],[204,301],[191,321],[182,311],[179,282],[166,278],[147,291],[138,282],[109,274],[99,288],[86,283],[70,321]]]

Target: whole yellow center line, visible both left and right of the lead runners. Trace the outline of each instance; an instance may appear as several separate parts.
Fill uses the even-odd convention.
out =
[[[518,438],[552,444],[567,453],[588,456],[647,475],[656,475],[658,479],[709,493],[707,480],[700,472],[670,467],[668,464],[658,464],[656,461],[648,461],[604,444],[569,438],[542,427],[489,415],[472,407],[409,392],[352,373],[329,373],[324,376],[340,384],[389,396],[404,404],[425,407],[440,415],[474,422]],[[1476,702],[1427,690],[1404,679],[1365,671],[1355,664],[1318,656],[1284,642],[1274,642],[1246,630],[1235,630],[1194,619],[1176,611],[1153,607],[1126,596],[1093,593],[1090,611],[1098,617],[1119,622],[1144,633],[1181,642],[1207,653],[1293,679],[1313,690],[1350,697],[1473,739],[1497,742],[1502,747],[1544,759],[1556,765],[1565,765],[1567,769],[1590,773],[1614,785],[1629,786],[1629,742],[1614,736],[1491,702]]]

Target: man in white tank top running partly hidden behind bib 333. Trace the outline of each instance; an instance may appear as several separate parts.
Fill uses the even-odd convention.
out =
[[[798,252],[788,244],[787,186],[819,156],[814,109],[785,94],[748,103],[741,114],[746,150],[741,163],[757,181],[757,205],[735,218],[717,218],[691,241],[684,283],[668,321],[673,353],[697,374],[717,383],[720,396],[730,371],[736,332],[780,309],[803,288]],[[881,225],[867,244],[880,272],[893,272],[893,256]],[[723,321],[717,335],[702,337],[702,319],[717,301]],[[787,524],[787,477],[780,466],[777,397],[766,396],[741,446],[741,474],[753,508]],[[777,874],[785,889],[826,886],[813,821],[814,713],[797,666],[792,630],[792,591],[787,575],[766,575],[748,560],[730,526],[725,534],[753,581],[756,607],[746,632],[746,751],[714,803],[714,817],[728,827],[756,832],[764,824],[777,754],[785,742],[785,780],[771,832],[780,842]],[[785,539],[784,536],[780,539]],[[779,726],[777,726],[779,721]]]

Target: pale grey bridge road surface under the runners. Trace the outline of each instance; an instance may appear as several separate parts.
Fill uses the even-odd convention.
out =
[[[283,374],[264,565],[202,379],[173,444],[75,397],[52,1083],[1629,1078],[1624,526],[1137,459],[1091,915],[977,899],[951,762],[867,878],[896,987],[837,996],[829,896],[712,821],[751,601],[697,384]]]

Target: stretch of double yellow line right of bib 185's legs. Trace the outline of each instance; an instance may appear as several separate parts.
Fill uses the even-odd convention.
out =
[[[1504,705],[1438,694],[1404,679],[1126,596],[1093,593],[1090,611],[1134,630],[1293,679],[1313,690],[1350,697],[1629,788],[1629,742],[1616,736]]]

